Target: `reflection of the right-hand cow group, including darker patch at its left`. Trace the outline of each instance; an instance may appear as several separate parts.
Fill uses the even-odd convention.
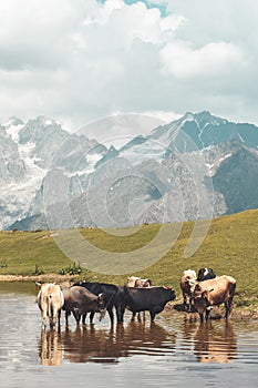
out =
[[[226,364],[237,358],[237,336],[230,320],[203,324],[185,320],[182,333],[185,343],[194,345],[199,363]]]

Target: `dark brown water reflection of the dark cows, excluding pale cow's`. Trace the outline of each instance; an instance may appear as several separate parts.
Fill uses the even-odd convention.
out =
[[[79,326],[75,331],[68,328],[61,341],[64,358],[71,363],[118,363],[120,357],[151,355],[158,349],[174,351],[175,339],[167,340],[167,331],[156,324],[130,323],[126,328],[117,325],[110,330],[95,329],[94,325]]]

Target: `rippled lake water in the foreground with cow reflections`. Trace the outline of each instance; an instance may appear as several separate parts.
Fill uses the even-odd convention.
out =
[[[258,321],[184,313],[41,330],[32,284],[0,284],[1,388],[258,387]]]

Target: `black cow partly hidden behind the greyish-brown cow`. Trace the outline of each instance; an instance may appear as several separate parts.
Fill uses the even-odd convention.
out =
[[[114,324],[114,314],[113,314],[113,306],[114,306],[114,296],[116,295],[118,287],[114,284],[109,283],[97,283],[97,282],[78,282],[74,283],[73,286],[82,286],[86,289],[89,289],[91,293],[95,295],[104,294],[104,305],[105,309],[109,313],[111,325]],[[93,323],[95,312],[91,312],[90,314],[90,323]],[[82,317],[82,323],[85,324],[86,314]]]

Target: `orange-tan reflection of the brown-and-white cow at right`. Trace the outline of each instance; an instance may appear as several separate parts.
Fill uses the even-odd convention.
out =
[[[195,354],[200,363],[225,364],[237,358],[237,339],[231,323],[213,326],[211,321],[202,324],[194,337]]]

